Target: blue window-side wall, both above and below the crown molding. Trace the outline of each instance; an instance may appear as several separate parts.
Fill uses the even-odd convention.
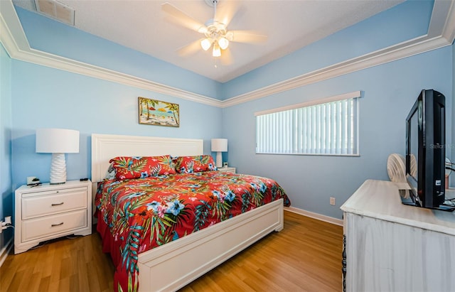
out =
[[[225,83],[223,98],[422,36],[432,8],[433,1],[406,1]],[[448,46],[223,109],[230,164],[242,173],[275,178],[294,207],[341,219],[339,207],[365,179],[389,180],[387,157],[405,155],[405,118],[419,92],[439,90],[452,108],[451,51]],[[359,106],[360,157],[255,154],[255,112],[356,90],[364,94]],[[451,116],[449,110],[447,141],[452,136]],[[329,205],[330,197],[336,198],[335,206]]]

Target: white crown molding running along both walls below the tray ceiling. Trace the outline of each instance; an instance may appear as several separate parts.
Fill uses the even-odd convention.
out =
[[[382,50],[377,50],[373,53],[362,55],[358,58],[346,60],[319,70],[314,70],[289,80],[277,82],[267,87],[262,87],[259,90],[253,90],[245,94],[237,95],[236,97],[231,97],[224,101],[188,92],[186,90],[181,90],[176,87],[161,85],[159,83],[127,75],[122,72],[45,53],[41,50],[34,50],[30,48],[30,45],[28,44],[26,35],[23,32],[21,23],[11,0],[0,0],[0,41],[11,58],[17,60],[35,63],[46,67],[53,67],[81,75],[87,75],[102,80],[117,82],[144,90],[168,94],[174,97],[188,99],[193,102],[208,104],[213,107],[232,107],[237,104],[267,97],[271,94],[292,90],[297,87],[302,87],[315,82],[321,82],[333,77],[346,75],[350,72],[363,70],[368,67],[389,63],[394,60],[400,60],[412,55],[417,55],[429,50],[451,45],[455,38],[454,1],[455,0],[434,1],[429,30],[425,36],[420,36],[412,40],[407,40],[403,43],[398,43],[397,45],[392,45]]]

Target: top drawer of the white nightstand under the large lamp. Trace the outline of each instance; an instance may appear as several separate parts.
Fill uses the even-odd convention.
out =
[[[43,192],[33,197],[23,195],[22,219],[52,215],[87,208],[87,188],[72,188],[65,191]]]

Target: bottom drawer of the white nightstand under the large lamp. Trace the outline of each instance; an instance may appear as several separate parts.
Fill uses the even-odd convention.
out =
[[[87,210],[22,221],[22,242],[87,227]]]

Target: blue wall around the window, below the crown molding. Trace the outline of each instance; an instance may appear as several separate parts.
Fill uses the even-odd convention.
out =
[[[451,109],[451,50],[448,46],[223,109],[230,164],[241,173],[277,180],[294,207],[341,219],[339,207],[366,179],[389,180],[387,157],[405,155],[405,118],[419,92],[443,92]],[[359,105],[360,157],[255,154],[255,112],[355,90],[364,94]],[[448,141],[451,120],[448,111]],[[335,206],[329,205],[330,197],[336,198]]]

